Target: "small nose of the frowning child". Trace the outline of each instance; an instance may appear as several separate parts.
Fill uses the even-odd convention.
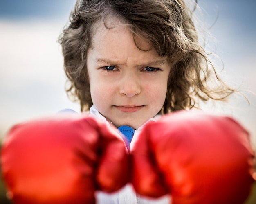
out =
[[[133,97],[141,92],[140,80],[135,73],[124,73],[120,80],[119,92],[127,97]]]

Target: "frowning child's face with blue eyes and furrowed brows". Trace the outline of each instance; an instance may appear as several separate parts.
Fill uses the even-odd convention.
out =
[[[136,40],[143,50],[150,48],[143,39]],[[161,110],[170,67],[167,57],[154,49],[139,50],[127,26],[106,29],[100,22],[87,55],[92,102],[116,127],[137,129]]]

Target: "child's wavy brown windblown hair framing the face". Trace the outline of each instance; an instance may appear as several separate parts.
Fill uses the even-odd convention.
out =
[[[88,49],[92,47],[95,24],[107,15],[124,20],[134,36],[144,37],[159,56],[168,57],[171,72],[162,113],[191,109],[199,101],[222,100],[235,91],[221,81],[200,45],[193,10],[185,0],[78,0],[59,42],[69,82],[66,91],[80,102],[81,111],[92,105]]]

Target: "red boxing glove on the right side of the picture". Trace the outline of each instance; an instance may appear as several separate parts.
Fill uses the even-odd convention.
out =
[[[149,123],[131,149],[132,183],[172,204],[242,204],[251,190],[249,134],[228,117],[181,111]]]

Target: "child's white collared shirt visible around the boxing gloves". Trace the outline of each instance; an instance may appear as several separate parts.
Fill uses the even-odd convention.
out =
[[[99,113],[94,105],[90,108],[90,116],[99,118],[101,121],[108,123],[106,118]],[[150,118],[148,121],[156,121],[157,118],[158,117],[156,116],[154,118]],[[130,143],[130,149],[133,148],[134,142],[137,140],[139,132],[144,125],[135,130]],[[132,184],[126,184],[126,186],[115,193],[97,191],[95,196],[97,204],[171,204],[171,197],[169,195],[164,195],[157,199],[143,197],[135,193]]]

